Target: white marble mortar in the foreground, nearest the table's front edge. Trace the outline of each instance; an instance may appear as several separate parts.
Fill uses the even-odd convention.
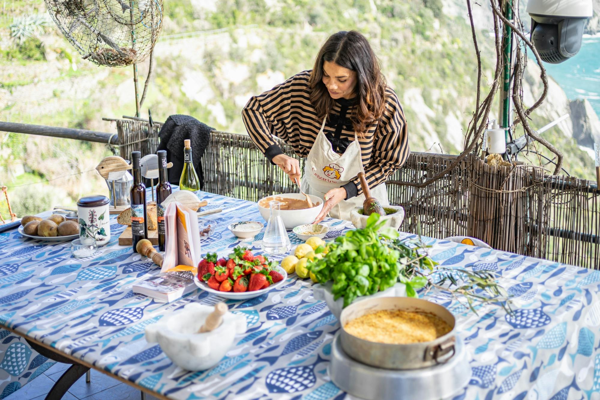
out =
[[[211,332],[197,333],[214,307],[190,303],[146,327],[146,341],[158,342],[175,365],[188,371],[212,368],[223,359],[235,335],[246,332],[246,318],[230,312]]]

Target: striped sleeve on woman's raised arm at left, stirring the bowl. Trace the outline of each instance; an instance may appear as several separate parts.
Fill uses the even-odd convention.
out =
[[[298,75],[292,76],[271,90],[251,97],[242,110],[248,135],[269,161],[283,154],[273,135],[277,134],[286,142],[290,139],[284,127],[285,116],[289,114],[290,95],[298,90],[297,81]],[[302,80],[304,82],[305,79]]]

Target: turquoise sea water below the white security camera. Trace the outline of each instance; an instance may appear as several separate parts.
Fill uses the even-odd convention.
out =
[[[544,63],[544,67],[569,100],[587,98],[600,115],[600,35],[584,35],[577,55],[560,64]]]

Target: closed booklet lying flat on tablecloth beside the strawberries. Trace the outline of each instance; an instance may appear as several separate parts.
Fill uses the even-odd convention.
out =
[[[151,276],[133,285],[134,293],[154,298],[159,303],[170,303],[197,289],[192,267],[178,265],[161,276]]]

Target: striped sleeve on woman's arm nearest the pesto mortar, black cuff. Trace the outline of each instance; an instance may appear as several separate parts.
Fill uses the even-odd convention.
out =
[[[404,112],[395,92],[388,88],[387,94],[386,109],[375,132],[371,162],[365,168],[367,182],[371,188],[385,183],[389,175],[404,165],[410,154]],[[358,195],[361,195],[358,177],[353,179],[353,182],[358,188]]]

